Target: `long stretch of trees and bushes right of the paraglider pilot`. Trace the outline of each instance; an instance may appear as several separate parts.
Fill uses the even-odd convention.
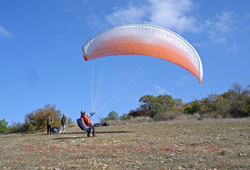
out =
[[[175,114],[194,114],[210,118],[243,118],[250,116],[250,85],[242,87],[239,83],[233,83],[231,88],[222,94],[209,94],[200,100],[183,103],[181,99],[171,95],[158,96],[144,95],[139,99],[140,106],[130,110],[129,113],[118,117],[118,113],[112,111],[106,120],[126,120],[135,117],[148,116],[164,119],[166,114],[172,117]]]

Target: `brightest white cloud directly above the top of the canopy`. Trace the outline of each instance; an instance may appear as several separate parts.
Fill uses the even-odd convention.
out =
[[[177,32],[198,31],[196,18],[189,15],[194,6],[191,0],[146,0],[142,6],[116,8],[105,19],[112,25],[148,23]]]

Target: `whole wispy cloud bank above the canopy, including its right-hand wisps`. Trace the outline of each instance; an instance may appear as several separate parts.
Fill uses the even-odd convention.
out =
[[[223,11],[201,20],[192,14],[197,7],[192,0],[145,0],[143,5],[130,3],[126,7],[114,8],[105,20],[111,25],[147,23],[179,33],[202,33],[211,43],[225,43],[233,30],[234,12]]]

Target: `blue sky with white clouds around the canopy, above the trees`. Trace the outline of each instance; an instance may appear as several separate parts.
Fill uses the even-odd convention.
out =
[[[73,120],[81,109],[120,115],[144,94],[184,102],[250,84],[248,0],[0,0],[0,119],[22,122],[45,104]],[[145,23],[168,28],[199,53],[204,79],[147,56],[85,62],[82,46],[113,26]]]

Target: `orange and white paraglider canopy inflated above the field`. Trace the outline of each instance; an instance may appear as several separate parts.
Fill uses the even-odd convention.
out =
[[[132,24],[112,28],[83,46],[84,60],[114,55],[147,55],[175,63],[203,80],[201,59],[180,35],[157,26]]]

